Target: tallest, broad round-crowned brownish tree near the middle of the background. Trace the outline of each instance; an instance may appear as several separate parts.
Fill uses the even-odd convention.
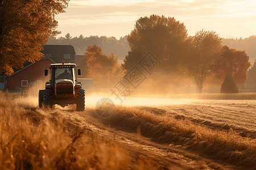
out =
[[[132,53],[126,56],[125,65],[129,61],[139,61],[147,52],[151,52],[162,63],[162,68],[176,68],[183,58],[186,48],[187,29],[175,18],[151,15],[141,17],[127,41]],[[126,69],[129,69],[126,67]]]

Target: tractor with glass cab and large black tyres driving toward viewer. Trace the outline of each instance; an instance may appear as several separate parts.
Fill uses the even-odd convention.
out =
[[[79,69],[78,69],[79,68]],[[48,75],[49,82],[46,82],[46,89],[39,90],[39,107],[53,108],[55,104],[65,107],[76,104],[77,111],[85,110],[85,90],[82,83],[77,82],[76,71],[81,75],[80,67],[75,63],[53,63],[46,67],[44,75]]]

